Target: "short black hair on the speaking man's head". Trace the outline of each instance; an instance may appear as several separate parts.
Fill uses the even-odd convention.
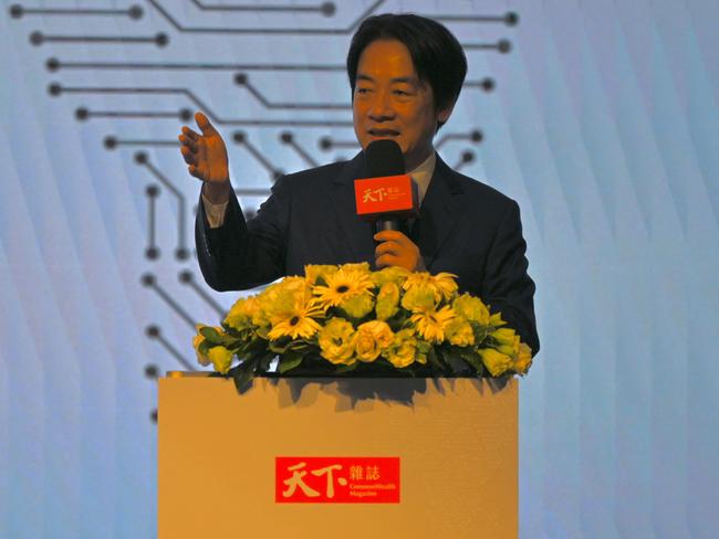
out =
[[[347,52],[347,76],[353,98],[359,56],[369,43],[377,40],[397,40],[407,47],[417,76],[429,83],[433,89],[437,110],[455,104],[467,75],[465,51],[444,25],[415,14],[385,13],[369,17],[359,25]]]

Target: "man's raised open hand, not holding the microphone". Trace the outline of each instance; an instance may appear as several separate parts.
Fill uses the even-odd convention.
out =
[[[202,134],[183,126],[180,154],[189,173],[205,182],[205,197],[213,204],[227,202],[231,187],[225,140],[202,113],[195,114],[195,121]]]

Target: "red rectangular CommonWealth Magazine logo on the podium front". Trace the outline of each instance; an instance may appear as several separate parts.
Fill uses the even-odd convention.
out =
[[[398,504],[399,457],[274,458],[278,504]]]

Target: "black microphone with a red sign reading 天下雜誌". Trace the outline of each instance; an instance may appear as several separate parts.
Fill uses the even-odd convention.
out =
[[[367,178],[354,182],[357,215],[375,223],[375,232],[403,230],[407,218],[418,215],[417,186],[405,173],[399,145],[374,140],[365,149]]]

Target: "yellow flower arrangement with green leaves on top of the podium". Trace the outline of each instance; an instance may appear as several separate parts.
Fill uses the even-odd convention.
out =
[[[240,298],[221,326],[198,325],[199,362],[243,391],[279,358],[281,374],[524,374],[532,351],[455,275],[367,263],[309,265],[305,276]],[[233,358],[239,363],[232,367]]]

